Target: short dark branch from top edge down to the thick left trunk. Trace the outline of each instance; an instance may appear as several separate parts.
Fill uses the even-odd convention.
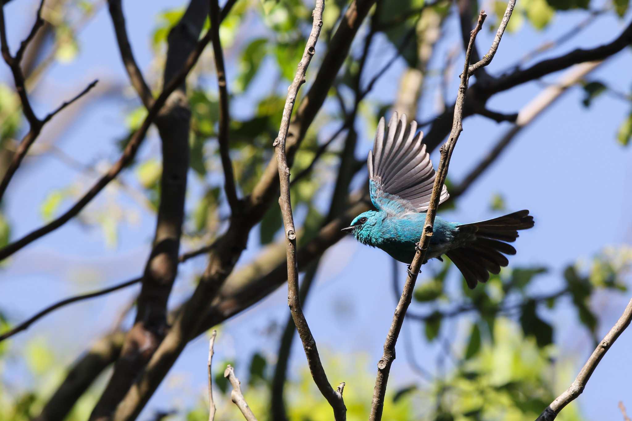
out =
[[[138,93],[138,97],[142,100],[146,109],[150,109],[154,104],[154,95],[149,89],[143,73],[138,68],[134,53],[131,50],[130,40],[127,37],[127,30],[125,28],[125,15],[123,15],[123,4],[121,0],[108,0],[110,16],[112,23],[114,24],[114,33],[116,33],[116,41],[118,42],[119,52],[121,53],[121,59],[125,65],[125,70],[128,76],[130,76],[131,86],[134,87]]]

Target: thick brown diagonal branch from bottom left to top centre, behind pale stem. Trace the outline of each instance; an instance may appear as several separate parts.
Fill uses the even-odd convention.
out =
[[[329,51],[325,55],[310,92],[301,102],[293,122],[289,125],[286,143],[288,162],[291,161],[291,157],[298,148],[299,139],[303,139],[307,127],[322,106],[333,83],[333,76],[343,64],[344,57],[348,54],[349,45],[374,1],[356,0],[349,5],[336,34],[332,38]],[[183,306],[182,311],[179,312],[173,327],[152,356],[145,370],[138,376],[137,381],[118,406],[114,416],[116,420],[131,420],[138,415],[178,355],[185,348],[186,343],[197,336],[198,329],[204,323],[200,314],[207,311],[209,302],[214,300],[219,288],[222,287],[233,270],[234,264],[246,247],[251,228],[260,221],[269,208],[274,194],[278,191],[278,186],[277,165],[271,160],[262,179],[248,197],[243,213],[231,218],[228,230],[217,239],[216,247],[213,247],[209,254],[209,264],[195,292]]]

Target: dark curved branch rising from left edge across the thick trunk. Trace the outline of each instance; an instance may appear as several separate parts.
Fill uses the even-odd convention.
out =
[[[198,57],[202,54],[202,50],[210,41],[210,34],[207,33],[200,42],[198,42],[197,47],[191,54],[188,56],[186,61],[184,62],[181,70],[171,79],[171,81],[165,86],[162,93],[155,100],[154,105],[147,113],[147,117],[143,120],[140,127],[138,127],[137,131],[135,131],[130,139],[130,142],[125,147],[125,151],[123,151],[123,155],[119,158],[119,160],[112,165],[112,167],[108,170],[108,172],[101,177],[101,179],[94,185],[92,188],[84,194],[84,196],[73,205],[70,210],[63,213],[63,215],[58,218],[52,220],[47,225],[38,228],[37,230],[30,232],[30,234],[25,235],[19,240],[8,244],[7,246],[0,249],[0,261],[8,258],[11,254],[20,250],[22,247],[27,246],[31,242],[43,237],[49,232],[56,230],[57,228],[64,225],[64,223],[68,222],[76,216],[92,199],[100,193],[100,191],[109,184],[118,174],[125,168],[135,157],[136,152],[138,151],[138,147],[141,145],[143,139],[145,138],[145,134],[147,134],[147,130],[149,126],[152,124],[154,119],[157,117],[159,110],[161,110],[162,105],[164,105],[167,101],[169,95],[171,95],[176,88],[178,88],[183,81],[185,81],[187,74],[191,71],[195,63],[197,62]]]

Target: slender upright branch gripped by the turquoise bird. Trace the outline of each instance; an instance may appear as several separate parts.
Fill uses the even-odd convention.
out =
[[[509,1],[507,10],[513,10],[515,0]],[[511,12],[509,12],[511,15]],[[484,11],[481,11],[478,15],[477,25],[470,33],[470,42],[465,52],[465,63],[463,64],[463,74],[461,74],[461,83],[459,84],[459,91],[456,97],[456,104],[454,105],[454,121],[452,131],[446,143],[441,146],[441,160],[439,161],[439,167],[437,168],[437,174],[435,175],[435,182],[432,189],[432,196],[430,197],[430,205],[426,213],[426,220],[423,227],[422,237],[420,242],[416,246],[415,258],[413,259],[410,270],[408,271],[408,278],[404,283],[404,289],[399,299],[398,305],[395,309],[395,314],[392,319],[391,328],[384,341],[384,353],[382,358],[377,363],[377,376],[375,377],[375,387],[373,391],[373,400],[371,405],[370,421],[379,421],[382,419],[382,411],[384,410],[384,398],[386,396],[386,385],[391,371],[391,365],[395,359],[395,344],[397,342],[401,326],[404,322],[404,316],[408,305],[412,298],[413,289],[415,288],[415,282],[417,275],[422,266],[422,262],[425,260],[426,252],[428,251],[428,244],[430,243],[430,237],[432,236],[432,227],[434,225],[434,219],[437,214],[437,206],[439,205],[439,197],[441,196],[441,189],[446,180],[447,169],[449,167],[450,158],[454,151],[454,146],[459,138],[459,134],[463,131],[461,124],[463,114],[463,103],[465,102],[465,93],[468,88],[468,81],[471,76],[469,71],[470,57],[473,49],[473,45],[478,32],[481,30],[483,21],[485,21]],[[504,22],[506,25],[506,22]],[[503,24],[501,23],[501,25]]]

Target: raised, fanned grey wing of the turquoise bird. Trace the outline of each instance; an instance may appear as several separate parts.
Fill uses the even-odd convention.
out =
[[[394,112],[385,138],[384,117],[377,124],[367,165],[371,201],[379,210],[423,212],[430,204],[435,170],[422,143],[423,133],[415,134],[417,123],[411,121],[410,126],[406,126],[406,114],[398,120]],[[439,203],[448,197],[443,186]]]

